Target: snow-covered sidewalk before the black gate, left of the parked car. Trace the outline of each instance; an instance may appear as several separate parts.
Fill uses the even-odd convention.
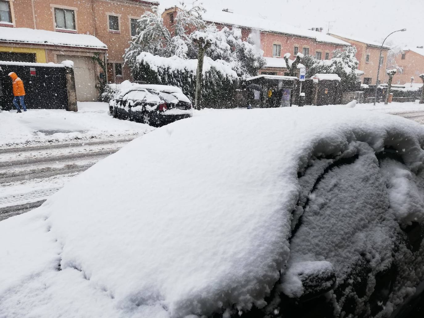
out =
[[[78,112],[29,109],[0,113],[0,146],[20,147],[81,140],[137,137],[151,126],[109,116],[107,103],[78,103]]]

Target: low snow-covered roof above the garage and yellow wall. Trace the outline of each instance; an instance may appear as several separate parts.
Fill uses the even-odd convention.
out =
[[[106,44],[92,35],[29,28],[0,27],[0,41],[107,49]]]

